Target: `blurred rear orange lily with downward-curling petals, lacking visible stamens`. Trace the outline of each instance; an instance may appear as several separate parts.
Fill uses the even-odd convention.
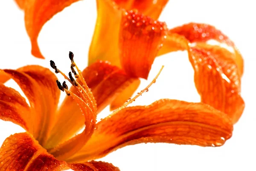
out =
[[[55,3],[55,0],[16,0],[25,12],[33,55],[44,58],[37,44],[44,23],[76,1],[59,0]],[[110,61],[132,77],[147,78],[156,56],[187,50],[195,70],[195,86],[201,101],[227,113],[233,123],[239,120],[244,110],[241,98],[243,59],[235,44],[220,30],[201,23],[167,29],[166,24],[157,21],[157,18],[168,0],[96,2],[98,16],[89,50],[89,65],[98,60]],[[208,44],[209,40],[230,46],[232,51],[212,46]],[[119,103],[113,104],[112,109],[122,105],[131,96],[126,92],[121,94],[121,97],[126,95],[125,98],[116,100]]]

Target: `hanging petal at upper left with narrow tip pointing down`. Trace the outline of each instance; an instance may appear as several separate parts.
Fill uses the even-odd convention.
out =
[[[25,26],[32,44],[32,55],[44,58],[38,47],[37,38],[44,24],[55,14],[78,0],[15,0],[25,13]]]

